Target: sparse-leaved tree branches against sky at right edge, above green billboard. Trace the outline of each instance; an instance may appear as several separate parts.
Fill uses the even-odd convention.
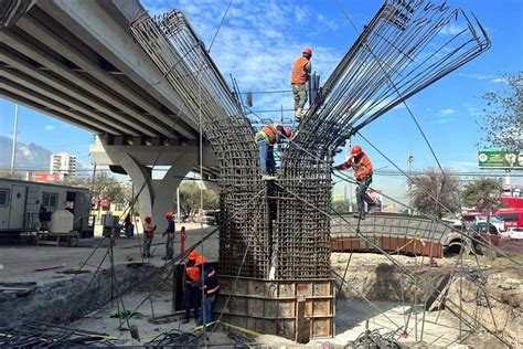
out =
[[[482,142],[511,152],[523,149],[523,72],[504,76],[509,88],[483,95]]]

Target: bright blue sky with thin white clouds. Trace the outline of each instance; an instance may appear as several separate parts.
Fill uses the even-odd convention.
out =
[[[378,0],[291,1],[233,0],[223,25],[212,43],[230,0],[142,0],[151,14],[173,8],[183,11],[196,33],[211,47],[211,56],[228,81],[232,74],[242,92],[288,91],[293,59],[302,47],[313,50],[313,70],[327,80],[350,49],[357,33],[343,15],[340,3],[361,30],[378,10]],[[439,2],[439,1],[438,1]],[[477,170],[480,117],[484,108],[481,96],[503,91],[503,74],[513,75],[523,66],[523,1],[451,0],[451,7],[472,11],[487,29],[492,47],[449,76],[409,98],[407,104],[426,133],[439,161],[455,171]],[[449,28],[451,33],[456,28]],[[450,36],[449,36],[450,38]],[[212,43],[212,45],[211,45]],[[255,94],[256,110],[292,107],[289,92]],[[0,135],[12,134],[13,104],[0,99]],[[279,119],[279,113],[262,113]],[[290,117],[291,112],[286,112]],[[52,151],[70,151],[89,167],[88,146],[93,135],[41,113],[21,107],[19,140],[36,142]],[[407,155],[414,156],[413,169],[435,167],[421,135],[404,107],[396,108],[362,134],[397,166],[405,169]],[[375,168],[394,167],[354,138],[370,155]],[[343,160],[340,155],[338,161]],[[374,187],[402,199],[405,179],[376,176]],[[343,191],[338,186],[337,191]]]

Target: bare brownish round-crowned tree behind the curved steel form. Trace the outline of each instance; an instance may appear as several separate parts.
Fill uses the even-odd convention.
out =
[[[455,213],[460,209],[459,178],[449,174],[446,169],[441,173],[439,169],[428,168],[423,173],[410,177],[408,184],[412,187],[410,203],[421,213],[440,219],[444,212]]]

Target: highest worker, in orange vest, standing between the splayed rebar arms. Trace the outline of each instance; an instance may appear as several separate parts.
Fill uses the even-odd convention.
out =
[[[312,71],[311,57],[312,50],[305,47],[302,55],[295,60],[295,65],[292,66],[290,85],[295,96],[295,117],[297,121],[300,121],[303,117],[303,107],[307,103],[307,82]]]

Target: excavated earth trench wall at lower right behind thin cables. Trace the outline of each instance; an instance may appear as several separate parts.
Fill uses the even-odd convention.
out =
[[[425,264],[420,267],[419,260],[402,256],[401,263],[414,276],[413,279],[383,256],[360,254],[355,263],[353,260],[354,264],[346,269],[345,283],[342,286],[339,276],[345,272],[348,256],[349,254],[338,254],[332,258],[339,297],[344,303],[389,302],[406,307],[416,303],[415,311],[418,314],[421,314],[424,307],[427,314],[438,314],[437,310],[441,308],[451,321],[449,325],[456,328],[459,327],[457,315],[466,311],[481,325],[476,326],[471,335],[463,339],[463,343],[504,347],[488,330],[505,338],[508,342],[523,343],[521,268],[484,265],[478,272],[477,266],[470,263],[469,267],[465,265],[462,272],[457,273],[455,261],[438,260],[438,267],[429,267],[428,258],[425,258]],[[440,307],[441,297],[438,297],[435,288],[446,295],[442,307]],[[463,317],[467,318],[465,315]],[[470,317],[467,319],[474,321]]]

